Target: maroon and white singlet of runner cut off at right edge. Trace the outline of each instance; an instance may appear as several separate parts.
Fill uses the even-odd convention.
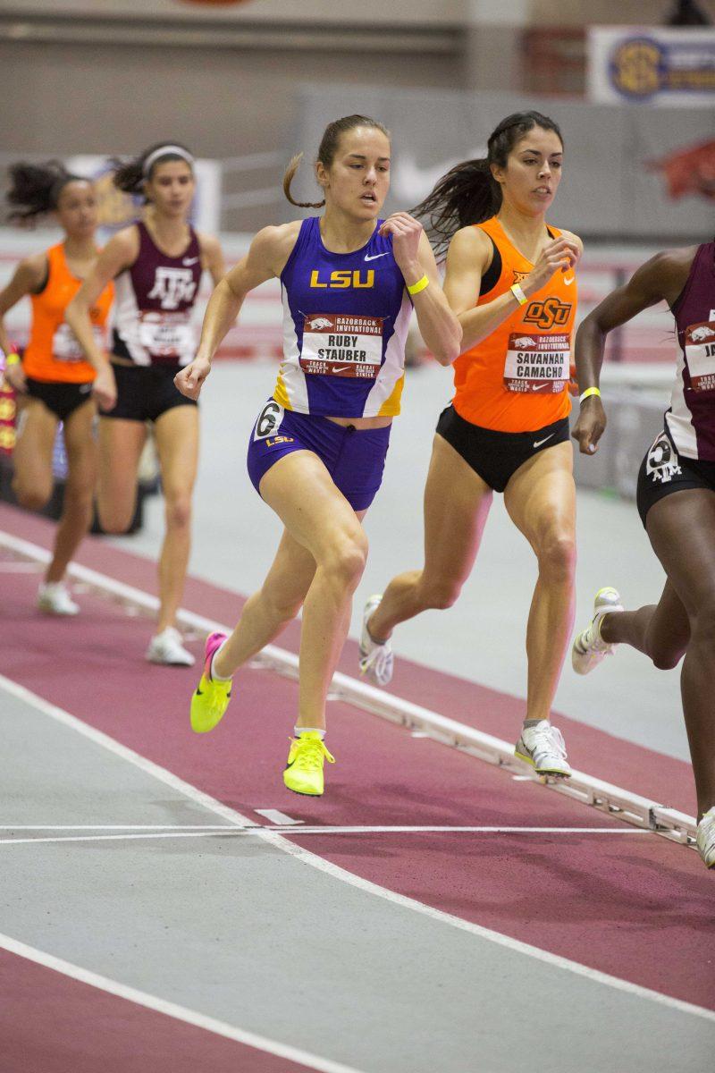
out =
[[[686,458],[715,461],[715,242],[698,247],[672,312],[677,368],[668,430]]]

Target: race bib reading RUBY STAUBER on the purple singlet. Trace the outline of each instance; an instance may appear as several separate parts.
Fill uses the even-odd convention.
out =
[[[300,368],[374,380],[383,363],[383,318],[311,313],[303,322]]]

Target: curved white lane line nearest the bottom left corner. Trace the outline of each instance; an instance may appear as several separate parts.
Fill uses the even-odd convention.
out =
[[[215,1017],[207,1017],[206,1014],[189,1010],[187,1006],[178,1005],[176,1002],[168,1002],[157,995],[149,995],[147,991],[140,991],[136,987],[129,987],[126,984],[120,984],[116,980],[110,980],[108,976],[101,976],[98,972],[91,972],[89,969],[83,969],[79,965],[73,965],[72,961],[65,961],[61,957],[55,957],[53,954],[45,953],[45,951],[28,946],[26,943],[18,942],[10,936],[0,934],[0,946],[11,954],[17,954],[18,957],[25,957],[38,965],[45,966],[47,969],[54,969],[55,972],[61,972],[65,976],[79,980],[83,984],[89,984],[91,987],[107,991],[109,995],[116,995],[117,998],[135,1002],[147,1010],[154,1010],[157,1013],[163,1013],[167,1017],[174,1017],[176,1020],[185,1021],[187,1025],[204,1028],[207,1032],[213,1032],[214,1035],[223,1035],[226,1040],[234,1040],[236,1043],[243,1043],[249,1047],[254,1047],[256,1050],[264,1050],[269,1055],[275,1055],[277,1058],[285,1058],[287,1061],[297,1062],[299,1065],[304,1065],[308,1069],[318,1070],[318,1073],[362,1073],[362,1071],[355,1069],[354,1065],[333,1062],[330,1058],[322,1058],[319,1055],[313,1055],[309,1050],[302,1050],[300,1047],[294,1047],[288,1043],[269,1040],[265,1035],[248,1032],[242,1028],[235,1028],[223,1020],[217,1020]],[[237,1056],[236,1069],[240,1068],[240,1059]]]

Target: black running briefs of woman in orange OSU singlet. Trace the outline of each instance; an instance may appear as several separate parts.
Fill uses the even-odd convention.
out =
[[[437,432],[490,488],[504,491],[525,461],[547,447],[568,442],[569,426],[568,417],[562,417],[535,432],[497,432],[473,425],[448,406],[440,414]]]

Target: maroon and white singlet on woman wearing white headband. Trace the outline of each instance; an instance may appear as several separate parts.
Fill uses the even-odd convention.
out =
[[[202,278],[196,232],[183,253],[170,258],[146,225],[136,224],[139,252],[116,280],[113,352],[135,365],[178,368],[193,361],[196,333],[191,313]]]

